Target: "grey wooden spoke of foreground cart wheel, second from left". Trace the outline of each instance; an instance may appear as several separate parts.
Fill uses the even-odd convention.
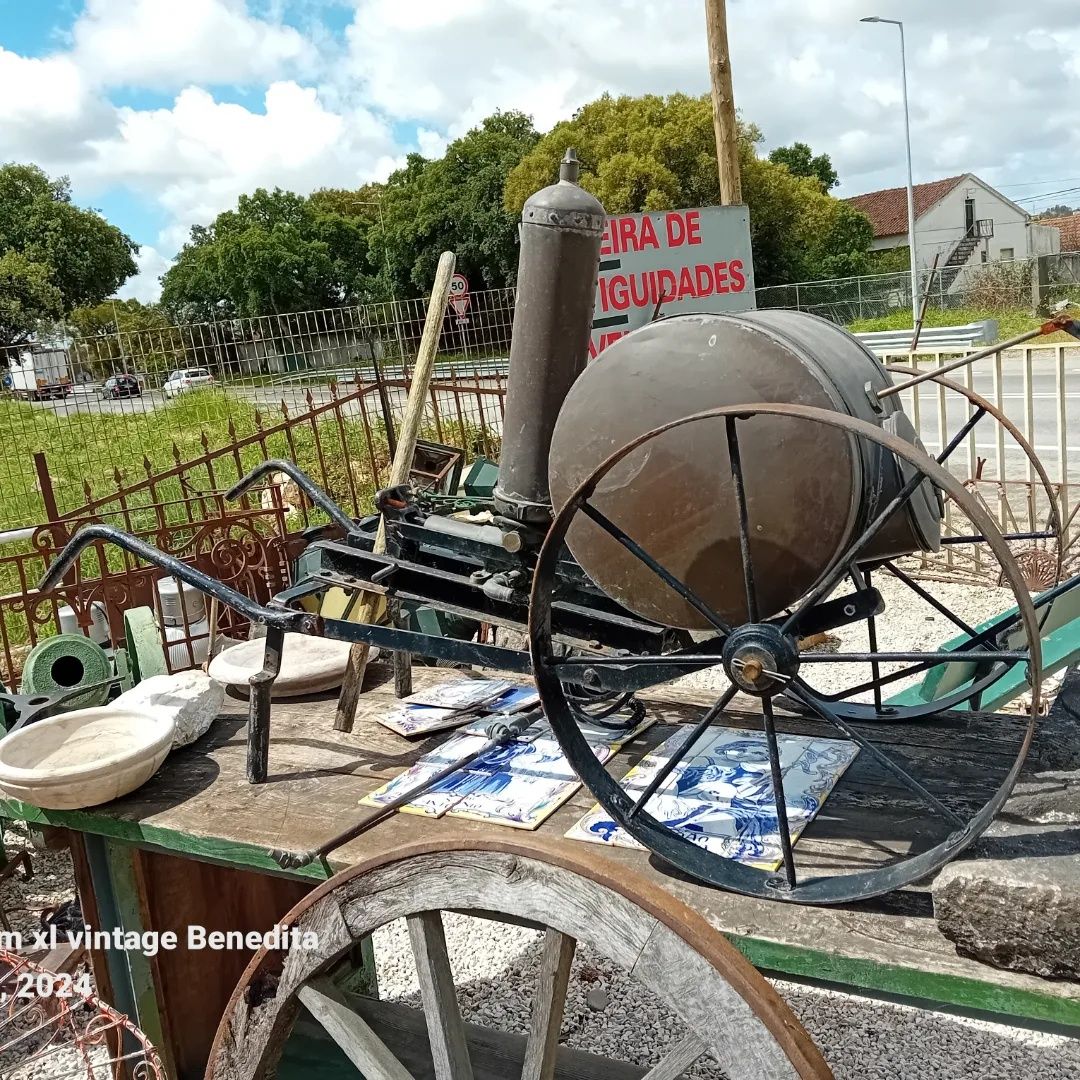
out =
[[[436,1080],[473,1080],[461,1010],[446,954],[446,934],[438,912],[420,912],[408,918],[420,999],[428,1021],[428,1037]]]

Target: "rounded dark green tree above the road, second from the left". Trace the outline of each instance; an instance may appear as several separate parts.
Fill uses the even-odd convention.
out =
[[[179,320],[312,311],[367,299],[368,219],[348,193],[310,198],[275,188],[241,195],[197,225],[162,278],[162,305]]]

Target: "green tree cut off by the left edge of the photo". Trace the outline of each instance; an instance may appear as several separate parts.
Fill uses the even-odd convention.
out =
[[[117,291],[138,246],[71,202],[67,177],[37,165],[0,166],[0,343],[27,340],[80,305]]]

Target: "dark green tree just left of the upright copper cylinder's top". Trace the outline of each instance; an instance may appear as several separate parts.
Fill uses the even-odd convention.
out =
[[[397,295],[431,288],[442,252],[474,287],[511,285],[517,271],[517,216],[503,206],[507,177],[537,145],[522,112],[496,112],[430,161],[409,154],[387,181],[372,228],[372,267]],[[387,266],[389,265],[389,270]]]

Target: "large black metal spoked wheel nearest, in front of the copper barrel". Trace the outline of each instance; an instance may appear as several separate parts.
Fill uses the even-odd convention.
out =
[[[888,468],[897,470],[894,485],[896,494],[885,505],[880,503],[859,519],[831,565],[816,582],[797,602],[774,611],[762,605],[761,597],[774,596],[775,589],[764,580],[759,566],[778,565],[777,552],[770,548],[769,521],[766,507],[775,508],[775,494],[768,499],[758,492],[767,484],[782,483],[775,475],[774,464],[754,456],[745,460],[740,435],[753,433],[753,426],[783,418],[788,426],[812,424],[839,430],[850,440],[873,445],[883,451]],[[720,612],[702,595],[702,588],[690,588],[685,568],[663,565],[656,552],[649,550],[656,537],[631,536],[599,509],[604,502],[605,478],[615,473],[611,486],[620,477],[633,474],[635,461],[648,460],[649,455],[662,454],[662,436],[687,424],[720,424],[726,434],[727,461],[717,461],[718,492],[702,492],[702,498],[717,497],[731,509],[731,530],[728,538],[718,538],[716,551],[726,554],[712,570],[713,576],[724,576],[730,583],[741,584],[738,604],[730,602]],[[715,430],[715,429],[714,429]],[[966,430],[957,436],[962,440]],[[957,440],[954,440],[956,442]],[[946,450],[948,448],[946,447]],[[943,455],[947,457],[947,453]],[[978,529],[980,536],[1002,567],[1015,602],[1015,616],[1001,625],[971,631],[970,646],[942,650],[939,648],[912,651],[886,650],[877,644],[876,620],[882,616],[880,597],[867,581],[867,571],[881,565],[892,566],[880,557],[879,540],[892,527],[896,515],[905,512],[909,500],[928,490],[936,490],[939,498],[953,499]],[[881,500],[883,501],[883,500]],[[610,509],[609,504],[605,509]],[[758,511],[758,513],[755,513]],[[618,545],[623,556],[644,565],[664,586],[671,590],[712,627],[712,633],[700,637],[692,648],[684,648],[659,656],[610,656],[597,651],[593,657],[565,657],[553,646],[552,598],[557,589],[555,567],[568,535],[579,523],[586,523],[594,530],[600,529]],[[813,522],[807,523],[808,528]],[[612,551],[616,549],[612,548]],[[878,551],[873,567],[864,562],[867,552]],[[761,558],[761,553],[765,558]],[[640,567],[638,567],[640,569]],[[895,571],[896,568],[892,566]],[[903,571],[900,571],[903,573]],[[702,567],[692,568],[693,580],[710,579]],[[919,586],[916,586],[919,588]],[[840,592],[840,590],[847,590]],[[767,604],[768,602],[766,602]],[[731,613],[735,610],[735,615]],[[887,612],[886,612],[887,615]],[[869,647],[851,652],[800,651],[799,640],[813,629],[850,624],[862,619],[867,623]],[[961,621],[962,622],[962,621]],[[861,900],[900,888],[918,880],[942,865],[972,842],[989,824],[1008,797],[1016,780],[1035,729],[1039,708],[1041,656],[1039,648],[1038,617],[1024,588],[1022,576],[1010,554],[1009,545],[990,515],[972,498],[963,485],[953,477],[937,461],[922,449],[874,424],[850,416],[825,409],[785,404],[738,405],[696,414],[663,424],[634,440],[608,457],[566,501],[548,535],[537,565],[530,609],[530,650],[534,673],[545,713],[567,755],[570,765],[599,800],[611,822],[626,835],[644,845],[664,862],[677,869],[712,885],[738,892],[799,903],[843,903]],[[854,702],[840,693],[825,694],[810,685],[810,671],[826,670],[829,665],[843,671],[862,669],[869,675],[862,687],[869,693],[870,712],[863,715]],[[672,747],[666,757],[657,759],[647,782],[624,788],[604,764],[597,760],[579,730],[579,720],[572,703],[568,701],[564,683],[577,681],[597,689],[627,690],[656,687],[689,672],[718,669],[728,685],[708,707],[698,711],[696,717],[680,720],[689,728],[681,740],[669,742]],[[972,694],[971,685],[994,681],[1017,669],[1026,673],[1030,685],[1030,708],[1015,724],[1004,725],[1001,738],[1012,742],[997,745],[994,760],[980,764],[980,782],[971,789],[957,784],[955,769],[950,769],[947,732],[936,726],[879,723],[882,687],[900,679],[910,680],[922,672],[937,670],[946,673],[961,670],[966,685],[953,693],[940,696],[930,710],[937,712],[949,707],[957,694],[964,700]],[[758,719],[739,716],[732,720],[726,715],[740,696],[757,699]],[[794,703],[802,716],[791,715],[785,703]],[[860,706],[861,707],[861,706]],[[913,710],[908,718],[924,715]],[[762,825],[774,832],[777,868],[761,868],[768,859],[756,860],[750,865],[732,849],[711,842],[707,808],[699,808],[697,821],[688,827],[686,815],[658,809],[664,797],[681,791],[680,784],[688,777],[701,777],[708,769],[719,772],[720,786],[726,782],[725,766],[708,759],[699,759],[703,740],[720,727],[745,728],[759,726],[757,751],[751,761],[728,760],[732,775],[746,769],[757,772],[755,807],[741,807],[735,786],[727,804],[728,809],[716,813],[726,818],[724,828],[738,838],[740,829],[760,837]],[[1004,730],[1008,729],[1008,730]],[[793,833],[799,827],[799,815],[807,810],[804,792],[798,793],[800,804],[796,813],[788,806],[793,784],[788,779],[791,760],[785,757],[787,737],[807,731],[836,740],[852,751],[858,747],[855,765],[840,780],[829,805],[828,824],[814,831],[807,856],[796,858]],[[930,731],[941,745],[933,753],[918,755],[905,744],[904,731]],[[860,774],[858,788],[846,800],[841,789],[849,785],[849,777]],[[730,779],[727,778],[728,780]],[[732,789],[729,784],[726,788]],[[820,793],[819,793],[820,794]],[[892,805],[899,813],[886,814],[896,827],[897,835],[881,835],[865,826],[867,808],[872,805]],[[761,807],[766,813],[762,816]],[[820,807],[820,800],[818,802]],[[836,810],[834,811],[834,806]],[[703,813],[701,811],[704,811]],[[745,813],[743,813],[745,811]],[[842,812],[841,812],[842,811]],[[829,855],[828,843],[843,832],[843,819],[853,832],[861,832],[862,839],[854,846],[841,845],[839,853]],[[815,823],[816,824],[816,823]],[[793,827],[794,826],[794,827]],[[812,827],[812,826],[811,826]],[[906,832],[906,835],[903,835]],[[821,839],[819,834],[827,834]],[[873,835],[870,835],[873,834]],[[808,838],[810,834],[808,833]],[[753,853],[753,845],[746,851]],[[745,852],[744,852],[745,853]]]

